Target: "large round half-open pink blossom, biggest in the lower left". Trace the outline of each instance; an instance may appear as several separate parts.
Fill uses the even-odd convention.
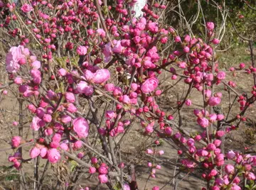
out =
[[[85,118],[75,118],[73,128],[80,138],[86,138],[89,132],[89,124]]]

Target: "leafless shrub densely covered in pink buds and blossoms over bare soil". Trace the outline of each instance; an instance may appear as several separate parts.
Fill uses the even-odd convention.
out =
[[[120,161],[117,150],[137,123],[144,135],[156,138],[154,146],[160,139],[175,143],[183,171],[203,168],[201,176],[207,182],[203,189],[254,186],[256,157],[233,150],[225,153],[222,146],[225,135],[246,120],[247,108],[256,101],[256,84],[250,86],[251,94],[239,94],[235,82],[220,71],[215,59],[220,40],[215,38],[214,23],[206,23],[204,40],[179,36],[171,26],[159,23],[155,12],[166,6],[146,4],[143,16],[137,17],[129,9],[134,4],[122,0],[116,6],[100,0],[28,1],[22,6],[1,2],[1,9],[9,13],[1,28],[19,40],[6,55],[6,71],[26,102],[30,128],[36,134],[32,141],[21,133],[14,136],[11,146],[16,152],[9,161],[21,170],[29,160],[23,159],[21,147],[29,145],[31,159],[41,157],[50,164],[74,160],[110,189],[134,189],[135,173],[124,172],[127,163]],[[168,44],[175,48],[162,53]],[[237,71],[253,75],[256,68],[230,69]],[[169,74],[167,79],[164,73]],[[180,80],[186,86],[186,95],[173,100],[177,102],[172,114],[157,101],[167,80]],[[227,113],[218,111],[223,92],[235,94],[240,104],[233,118],[233,104]],[[203,104],[201,109],[193,108],[191,121],[201,126],[196,135],[183,130],[181,120],[183,107],[193,106],[188,99],[193,96]],[[93,146],[96,142],[101,150]],[[86,155],[80,152],[85,147]],[[154,158],[164,155],[164,150],[150,145],[145,152]],[[149,177],[155,178],[161,165],[148,162],[147,166]],[[36,189],[41,189],[38,179],[35,175]],[[65,186],[69,184],[78,186],[79,181],[67,181]]]

